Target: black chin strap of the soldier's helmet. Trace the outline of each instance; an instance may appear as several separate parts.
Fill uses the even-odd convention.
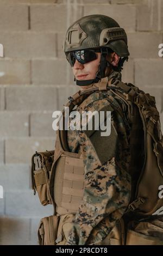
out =
[[[89,86],[92,83],[98,83],[99,80],[101,80],[103,77],[105,77],[105,70],[107,66],[110,66],[111,64],[106,60],[105,56],[101,54],[101,60],[98,66],[98,71],[96,73],[96,77],[91,80],[76,80],[74,78],[74,81],[76,81],[77,86]]]

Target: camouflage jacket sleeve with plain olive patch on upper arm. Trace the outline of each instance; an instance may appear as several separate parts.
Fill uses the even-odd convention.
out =
[[[107,100],[98,100],[85,110],[109,109],[108,105]],[[129,204],[130,149],[122,117],[112,109],[110,135],[100,136],[100,132],[79,132],[85,167],[84,197],[66,245],[98,244]]]

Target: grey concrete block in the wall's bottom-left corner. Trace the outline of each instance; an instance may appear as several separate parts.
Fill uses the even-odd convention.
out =
[[[0,218],[0,245],[27,245],[29,241],[29,218]]]

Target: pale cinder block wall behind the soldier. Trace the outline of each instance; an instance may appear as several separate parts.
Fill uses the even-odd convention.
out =
[[[84,15],[104,14],[126,29],[130,59],[122,72],[156,97],[162,115],[163,0],[0,0],[0,244],[35,245],[51,206],[30,190],[30,157],[52,150],[52,112],[79,88],[62,53],[66,28]]]

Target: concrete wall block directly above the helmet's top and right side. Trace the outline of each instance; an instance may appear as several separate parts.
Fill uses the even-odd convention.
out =
[[[108,4],[107,8],[106,5],[102,4],[85,5],[84,15],[91,14],[110,16],[112,19],[116,20],[127,33],[129,31],[135,31],[136,7],[134,5]]]

